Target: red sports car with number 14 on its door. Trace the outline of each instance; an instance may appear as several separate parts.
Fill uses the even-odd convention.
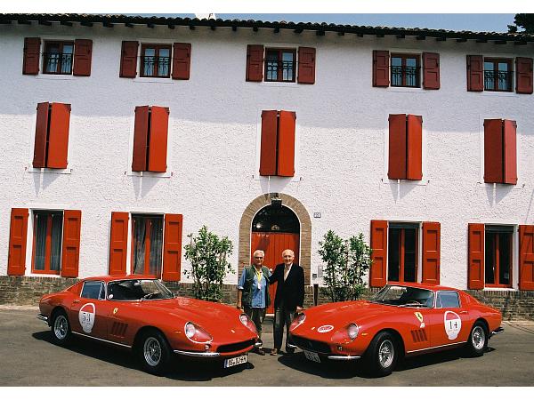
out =
[[[314,307],[295,316],[290,336],[304,356],[364,359],[377,376],[391,373],[401,356],[465,347],[481,356],[503,332],[501,313],[457,289],[424,284],[386,285],[371,300]]]

